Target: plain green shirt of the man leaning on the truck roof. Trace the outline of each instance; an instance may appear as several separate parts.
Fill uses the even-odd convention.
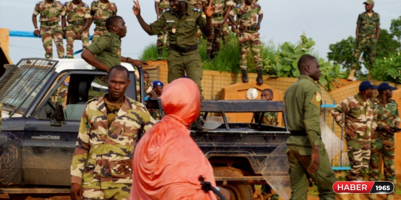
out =
[[[87,49],[109,68],[121,64],[121,38],[116,34],[106,32]]]

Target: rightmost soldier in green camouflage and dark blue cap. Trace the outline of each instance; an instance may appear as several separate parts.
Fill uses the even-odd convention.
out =
[[[395,100],[392,100],[392,90],[397,90],[391,87],[388,83],[381,83],[377,88],[379,96],[375,101],[375,110],[377,114],[377,129],[373,133],[371,141],[371,160],[369,162],[369,181],[379,181],[380,166],[379,160],[383,156],[384,175],[387,181],[396,185],[394,171],[394,133],[393,127],[398,128],[400,118],[398,114],[398,105]],[[393,200],[395,189],[387,195],[387,200]],[[371,194],[370,198],[375,200],[376,194]]]

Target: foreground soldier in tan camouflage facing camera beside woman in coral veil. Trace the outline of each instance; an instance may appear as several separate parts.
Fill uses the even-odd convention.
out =
[[[129,72],[110,68],[109,93],[89,100],[79,126],[71,164],[71,199],[128,200],[132,185],[132,157],[138,132],[155,121],[145,106],[124,95]]]

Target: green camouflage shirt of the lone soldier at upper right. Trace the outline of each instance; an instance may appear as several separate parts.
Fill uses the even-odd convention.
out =
[[[376,29],[380,26],[380,15],[377,12],[373,12],[371,17],[367,12],[359,14],[356,24],[360,26],[358,40],[365,42],[370,39],[376,43]]]

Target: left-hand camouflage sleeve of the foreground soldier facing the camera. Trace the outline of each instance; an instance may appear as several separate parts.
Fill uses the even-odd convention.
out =
[[[75,151],[71,164],[71,183],[81,184],[82,174],[84,172],[85,162],[89,152],[90,124],[88,123],[87,116],[88,109],[89,107],[87,104],[82,114],[81,124],[79,125],[77,143],[75,144]]]

